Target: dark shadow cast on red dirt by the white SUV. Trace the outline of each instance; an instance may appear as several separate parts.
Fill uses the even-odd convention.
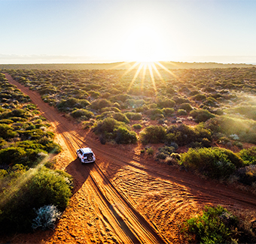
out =
[[[78,158],[72,161],[67,167],[66,172],[73,176],[74,188],[72,193],[75,194],[84,185],[90,175],[90,170],[94,167],[94,163],[82,164]]]

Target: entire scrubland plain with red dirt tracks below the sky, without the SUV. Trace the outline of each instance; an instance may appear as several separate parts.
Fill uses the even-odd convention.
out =
[[[254,65],[0,71],[1,242],[256,242]]]

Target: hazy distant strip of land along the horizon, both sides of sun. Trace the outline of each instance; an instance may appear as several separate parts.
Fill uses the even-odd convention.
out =
[[[256,65],[246,64],[221,64],[215,62],[160,62],[165,68],[250,68]],[[102,70],[102,69],[130,69],[133,68],[135,62],[115,62],[105,64],[28,64],[28,65],[0,65],[0,70],[18,69],[18,70]],[[134,67],[138,68],[138,66]],[[157,65],[158,69],[161,69]]]

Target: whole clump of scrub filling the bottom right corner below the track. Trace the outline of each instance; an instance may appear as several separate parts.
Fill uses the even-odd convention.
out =
[[[203,215],[187,220],[184,231],[190,235],[190,242],[254,243],[256,233],[252,225],[222,206],[206,206]]]

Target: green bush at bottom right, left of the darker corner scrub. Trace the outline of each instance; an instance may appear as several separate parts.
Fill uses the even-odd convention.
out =
[[[196,235],[199,243],[231,243],[231,230],[238,219],[222,206],[207,207],[203,216],[187,220],[187,231]]]

